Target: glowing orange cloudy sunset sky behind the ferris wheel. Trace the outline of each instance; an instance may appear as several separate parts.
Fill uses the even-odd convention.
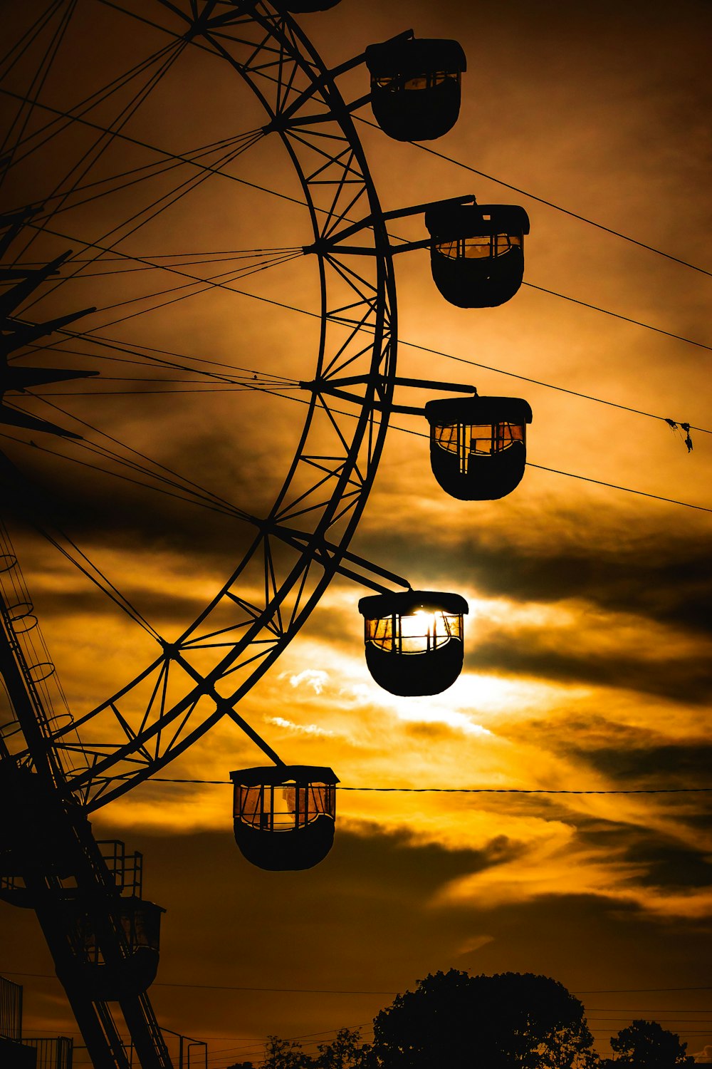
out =
[[[380,690],[357,608],[368,591],[336,578],[240,715],[284,760],[330,765],[350,788],[709,790],[712,6],[342,0],[295,17],[332,67],[410,28],[462,45],[459,122],[425,142],[447,158],[389,139],[362,121],[368,106],[354,125],[384,211],[475,193],[528,213],[525,284],[500,308],[446,304],[427,251],[395,268],[398,373],[525,398],[531,466],[502,500],[455,501],[431,475],[426,421],[394,416],[351,548],[413,587],[466,598],[462,675],[431,698]],[[206,152],[207,181],[152,214],[195,170],[157,171],[156,150],[185,158],[264,124],[235,71],[172,36],[178,24],[157,0],[5,0],[0,19],[10,44],[37,24],[21,59],[0,67],[2,129],[20,140],[0,211],[43,205],[42,221],[56,210],[11,251],[45,263],[73,250],[73,277],[18,314],[97,309],[18,363],[100,373],[9,400],[264,515],[303,396],[243,387],[312,377],[319,331],[318,314],[303,314],[319,309],[313,258],[238,278],[265,262],[243,250],[312,241],[286,152],[273,135],[224,166]],[[366,93],[366,78],[348,73],[344,96]],[[30,91],[37,105],[13,126]],[[60,124],[72,109],[86,122]],[[112,124],[123,139],[85,157]],[[131,169],[136,181],[112,192],[108,180]],[[73,184],[85,196],[62,200]],[[422,217],[392,231],[426,236]],[[109,251],[93,260],[95,245]],[[171,267],[226,281],[165,304],[155,294],[186,283]],[[159,351],[173,367],[155,362]],[[204,374],[218,366],[207,361],[227,384]],[[691,424],[692,452],[665,418]],[[252,538],[234,516],[107,474],[97,453],[2,431],[47,514],[169,638]],[[156,648],[12,510],[7,524],[78,717]],[[209,1041],[211,1069],[258,1064],[270,1033],[307,1037],[308,1051],[343,1026],[368,1038],[395,993],[450,967],[555,977],[584,1002],[601,1052],[645,1017],[712,1063],[709,794],[342,790],[327,859],[273,873],[240,856],[225,783],[259,763],[223,721],[160,773],[220,783],[146,783],[93,817],[97,838],[144,852],[145,896],[167,910],[151,997],[167,1028]],[[0,933],[27,1033],[76,1033],[34,916],[0,903]]]

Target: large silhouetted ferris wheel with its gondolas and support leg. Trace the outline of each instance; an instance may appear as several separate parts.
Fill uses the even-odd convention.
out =
[[[31,580],[3,533],[0,790],[6,810],[22,805],[0,843],[0,894],[36,911],[96,1066],[128,1065],[113,1003],[144,1069],[171,1063],[146,995],[160,908],[142,899],[136,855],[96,843],[88,816],[228,717],[273,762],[232,773],[244,856],[275,869],[320,861],[333,839],[337,778],[331,769],[286,764],[240,714],[240,700],[337,573],[371,591],[359,609],[378,683],[423,695],[457,678],[464,600],[412,590],[349,549],[394,412],[427,420],[433,472],[454,497],[502,497],[524,470],[525,401],[397,375],[393,260],[429,249],[446,300],[503,304],[522,281],[526,214],[479,205],[472,195],[384,211],[352,118],[370,103],[391,138],[446,133],[460,106],[462,50],[406,31],[330,68],[295,16],[336,2],[96,0],[81,9],[54,0],[38,15],[14,13],[14,44],[0,66],[13,105],[0,187],[9,520],[39,531],[153,651],[108,698],[69,710]],[[349,100],[341,81],[350,87],[362,75],[363,91]],[[186,149],[189,133],[201,140]],[[407,218],[422,219],[420,238],[390,233],[391,221]],[[223,243],[230,235],[231,248],[196,251],[193,235],[205,233]],[[238,233],[251,243],[234,249]],[[267,235],[275,244],[266,247]],[[272,281],[246,293],[248,276]],[[282,319],[295,294],[312,301],[302,309],[310,329],[296,337]],[[244,314],[248,298],[272,317],[265,337],[282,346],[279,374]],[[192,353],[177,351],[181,337]],[[169,419],[154,405],[140,429],[138,402],[116,400],[129,381],[142,413],[156,393],[239,390],[241,405],[237,415],[218,406],[207,427],[183,399]],[[398,404],[401,386],[459,396],[416,409]],[[299,427],[276,415],[273,401],[285,396],[301,403]],[[262,408],[250,407],[255,399]],[[183,470],[174,463],[180,449],[163,448],[176,428],[185,431]],[[264,498],[234,500],[224,482],[218,491],[197,477],[210,433],[230,435],[241,462],[258,458],[252,482],[264,482]],[[169,528],[175,501],[226,525],[236,547],[227,578],[177,637],[164,637],[52,518],[50,507],[63,502],[60,512],[77,508],[88,531],[97,522],[66,475],[77,464],[91,469],[92,486],[100,477],[109,497],[116,478],[160,492]],[[110,523],[122,501],[118,494],[101,506]]]

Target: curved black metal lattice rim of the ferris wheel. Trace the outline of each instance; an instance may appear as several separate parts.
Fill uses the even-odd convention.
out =
[[[321,327],[315,365],[303,376],[308,379],[302,383],[307,404],[294,460],[268,515],[235,511],[256,533],[228,579],[177,639],[169,642],[156,635],[155,660],[106,701],[73,718],[46,710],[46,742],[63,770],[66,788],[90,810],[148,778],[225,715],[279,761],[236,706],[304,623],[347,553],[383,446],[396,356],[391,250],[376,189],[349,108],[332,73],[295,21],[262,2],[154,0],[149,5],[127,3],[120,11],[123,18],[151,24],[156,40],[160,36],[163,42],[161,62],[175,62],[197,49],[202,58],[207,53],[216,63],[228,64],[260,102],[264,127],[235,138],[233,151],[235,145],[241,152],[267,138],[281,139],[308,215],[311,232],[303,244],[310,266],[316,265],[318,272]],[[6,95],[21,96],[15,88]],[[32,87],[19,104],[14,152],[6,161],[20,174],[22,167],[32,166],[33,153],[42,159],[47,145],[59,152],[52,146],[74,136],[75,127],[92,137],[99,131],[99,137],[129,140],[122,133],[121,110],[110,118],[101,111],[98,118],[85,100],[52,109],[34,100]],[[33,108],[44,117],[44,125],[34,129],[22,122],[22,109],[29,113]],[[85,158],[86,154],[81,157]],[[201,179],[209,177],[206,171],[220,173],[221,168],[215,156],[205,153],[179,156],[155,149],[155,159],[153,168],[145,168],[147,176],[161,166],[176,167],[176,161],[178,170],[183,165],[196,169]],[[111,220],[112,236],[92,229],[91,219],[86,222],[79,211],[72,211],[73,204],[80,208],[85,202],[92,180],[99,192],[112,191],[101,171],[100,153],[95,161],[90,157],[80,172],[70,169],[49,199],[33,198],[36,214],[28,227],[39,241],[33,237],[27,243],[31,251],[26,255],[36,258],[43,236],[52,234],[72,237],[78,250],[74,260],[89,251],[85,262],[100,263],[121,247],[124,234],[136,230],[137,218],[138,226],[153,218],[152,203],[140,210],[144,216],[136,210],[141,190],[137,180],[139,192],[135,191],[131,212],[120,222]],[[19,201],[12,205],[23,206]],[[60,227],[58,206],[69,220]],[[74,232],[73,218],[79,219]],[[349,263],[330,238],[358,219],[367,220],[362,241],[373,254],[360,257],[357,269],[353,259]],[[100,222],[106,229],[106,220]],[[74,278],[81,279],[82,270],[89,275],[80,263]],[[179,274],[191,277],[190,270]],[[88,319],[83,335],[73,337],[104,337],[93,322]],[[348,396],[336,398],[334,388],[343,383],[348,384]],[[5,579],[18,587],[14,558],[5,563]],[[16,597],[16,603],[23,598]],[[9,624],[14,626],[12,619]],[[31,678],[30,656],[28,652]],[[47,703],[49,692],[38,694],[37,700]],[[31,747],[22,748],[21,733],[14,734],[12,725],[5,733],[16,759],[31,764]]]

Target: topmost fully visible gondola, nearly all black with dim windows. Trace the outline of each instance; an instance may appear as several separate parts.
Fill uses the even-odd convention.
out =
[[[460,113],[460,76],[468,62],[457,41],[404,38],[369,45],[370,106],[396,141],[442,137]]]

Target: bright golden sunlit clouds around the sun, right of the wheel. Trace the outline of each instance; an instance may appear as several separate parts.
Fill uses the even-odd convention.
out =
[[[630,615],[581,601],[518,603],[468,593],[473,656],[478,642],[491,644],[493,633],[518,647],[536,646],[541,666],[560,648],[573,663],[639,654],[642,665],[654,660],[650,650],[661,644],[671,659],[703,656],[707,649],[696,635],[668,635],[655,621],[636,623]],[[671,699],[643,704],[628,683],[601,684],[575,679],[575,672],[567,682],[547,681],[541,668],[531,676],[465,670],[444,695],[397,698],[367,676],[360,631],[353,595],[335,586],[299,645],[283,655],[282,670],[260,683],[243,715],[283,759],[331,765],[344,787],[505,793],[342,790],[337,821],[343,834],[366,840],[405,836],[413,850],[438,845],[454,852],[485,852],[486,866],[455,880],[443,878],[430,901],[437,909],[594,896],[611,909],[635,908],[650,918],[705,917],[710,904],[706,889],[655,884],[650,858],[638,853],[642,839],[675,843],[680,851],[703,846],[699,830],[687,823],[685,804],[671,809],[654,795],[506,793],[508,788],[545,792],[661,785],[665,776],[669,779],[664,766],[642,764],[642,778],[621,783],[615,764],[606,768],[603,753],[618,738],[626,740],[631,761],[637,753],[645,762],[651,748],[694,746],[699,725],[692,710]],[[232,768],[260,759],[223,724],[180,760],[176,775],[226,778],[226,760]],[[228,831],[230,788],[173,786],[170,806],[167,790],[147,787],[136,800],[117,803],[112,816],[118,823],[130,820],[135,826],[165,832]]]

